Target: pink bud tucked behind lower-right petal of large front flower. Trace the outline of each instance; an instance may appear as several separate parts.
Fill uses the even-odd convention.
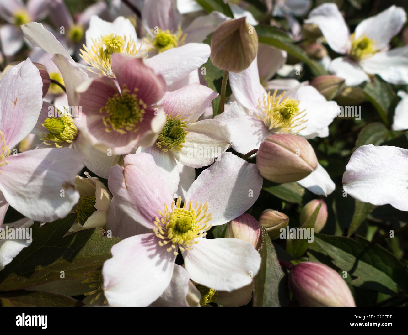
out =
[[[244,213],[228,223],[225,237],[239,238],[258,249],[262,242],[261,226],[252,215]]]

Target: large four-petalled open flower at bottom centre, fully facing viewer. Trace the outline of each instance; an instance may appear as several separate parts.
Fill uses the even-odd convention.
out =
[[[113,201],[150,233],[112,247],[103,267],[104,293],[113,306],[146,306],[168,287],[177,253],[191,279],[206,287],[232,291],[251,283],[260,256],[251,243],[235,238],[207,240],[211,226],[222,225],[253,205],[262,187],[255,164],[223,153],[189,188],[184,204],[146,153],[129,154],[124,167],[109,176]],[[118,223],[120,224],[120,223]]]

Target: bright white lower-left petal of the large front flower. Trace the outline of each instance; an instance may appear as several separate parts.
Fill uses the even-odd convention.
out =
[[[104,294],[111,306],[148,306],[162,295],[173,276],[173,252],[154,234],[132,236],[115,244],[102,268]]]

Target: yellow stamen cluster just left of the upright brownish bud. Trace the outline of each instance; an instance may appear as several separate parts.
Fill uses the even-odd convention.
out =
[[[149,51],[156,53],[162,53],[163,51],[177,48],[177,46],[182,46],[187,36],[183,34],[180,27],[178,27],[177,33],[160,28],[157,28],[157,30],[152,29],[152,33],[152,36],[147,35],[147,37],[144,38],[144,42],[146,42]]]

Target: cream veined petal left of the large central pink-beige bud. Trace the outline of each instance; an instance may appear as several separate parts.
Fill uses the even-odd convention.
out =
[[[211,165],[214,159],[231,145],[231,133],[226,123],[202,120],[187,126],[183,148],[173,152],[180,163],[190,167]]]

